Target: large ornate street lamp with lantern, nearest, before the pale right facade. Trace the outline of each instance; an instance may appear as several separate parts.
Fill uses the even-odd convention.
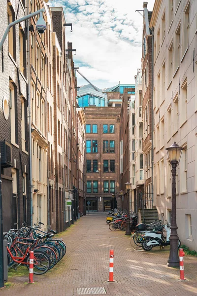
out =
[[[174,142],[169,148],[166,148],[167,155],[170,161],[171,172],[172,172],[172,209],[171,209],[171,233],[170,233],[170,249],[168,258],[168,267],[178,267],[179,266],[179,256],[178,256],[178,234],[176,225],[176,168],[179,165],[183,148],[178,146]]]

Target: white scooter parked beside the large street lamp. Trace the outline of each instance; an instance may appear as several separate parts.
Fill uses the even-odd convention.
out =
[[[157,246],[169,246],[169,236],[171,233],[171,229],[169,228],[170,224],[166,223],[163,227],[163,231],[151,231],[145,232],[142,238],[142,248],[145,251],[152,250],[153,247]],[[164,236],[164,231],[166,231],[166,236]],[[180,240],[178,239],[177,248],[181,245]]]

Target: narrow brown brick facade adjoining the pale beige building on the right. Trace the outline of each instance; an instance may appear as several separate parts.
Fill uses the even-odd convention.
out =
[[[143,34],[142,34],[142,90],[139,91],[139,113],[142,117],[142,149],[144,168],[144,193],[141,194],[141,207],[152,208],[152,31],[149,22],[152,12],[147,9],[147,2],[143,3]],[[141,113],[142,111],[142,113]]]

